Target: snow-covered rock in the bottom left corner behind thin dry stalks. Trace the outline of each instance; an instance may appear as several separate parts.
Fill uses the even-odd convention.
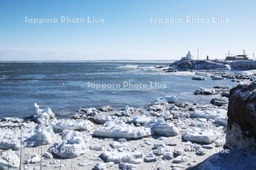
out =
[[[0,169],[18,169],[20,159],[18,155],[12,150],[2,151],[0,150]]]

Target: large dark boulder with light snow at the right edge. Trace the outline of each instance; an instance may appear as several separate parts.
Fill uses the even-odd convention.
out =
[[[256,151],[256,83],[230,90],[225,146]]]

